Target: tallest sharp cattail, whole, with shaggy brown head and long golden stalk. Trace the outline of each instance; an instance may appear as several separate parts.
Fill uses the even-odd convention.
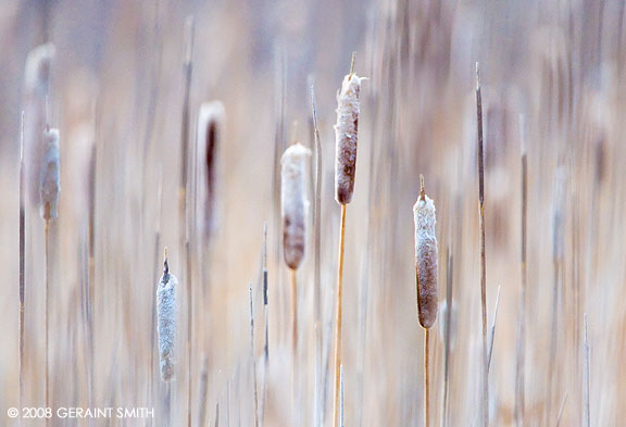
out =
[[[359,137],[359,93],[363,77],[354,74],[354,58],[350,74],[343,78],[337,93],[337,124],[335,125],[335,200],[341,206],[339,226],[339,262],[337,265],[337,321],[335,330],[335,389],[333,399],[333,426],[337,427],[339,412],[339,376],[341,366],[341,300],[343,297],[343,248],[346,236],[346,208],[352,200],[356,171],[356,147]]]

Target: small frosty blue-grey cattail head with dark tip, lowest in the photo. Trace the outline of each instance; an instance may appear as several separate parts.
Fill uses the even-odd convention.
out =
[[[161,361],[161,379],[174,378],[174,357],[176,346],[176,287],[178,280],[170,273],[165,255],[163,276],[156,289],[156,329],[159,332],[159,357]]]

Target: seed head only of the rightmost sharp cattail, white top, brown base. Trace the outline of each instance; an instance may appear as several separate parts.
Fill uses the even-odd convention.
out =
[[[424,185],[413,206],[415,219],[415,274],[420,325],[430,328],[437,319],[439,289],[437,285],[437,236],[435,203],[425,194]]]

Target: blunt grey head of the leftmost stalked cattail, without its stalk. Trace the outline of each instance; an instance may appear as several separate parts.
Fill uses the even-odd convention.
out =
[[[49,129],[43,134],[43,152],[41,156],[41,216],[43,219],[55,218],[59,214],[60,185],[59,168],[59,129]]]

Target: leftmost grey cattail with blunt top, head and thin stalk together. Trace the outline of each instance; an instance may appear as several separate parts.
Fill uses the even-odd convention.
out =
[[[46,222],[46,407],[50,407],[50,221],[59,216],[59,192],[60,186],[60,165],[59,165],[59,129],[47,128],[43,133],[43,152],[41,158],[41,177],[39,192],[41,197],[41,216]],[[46,424],[50,425],[50,418],[46,418]]]

